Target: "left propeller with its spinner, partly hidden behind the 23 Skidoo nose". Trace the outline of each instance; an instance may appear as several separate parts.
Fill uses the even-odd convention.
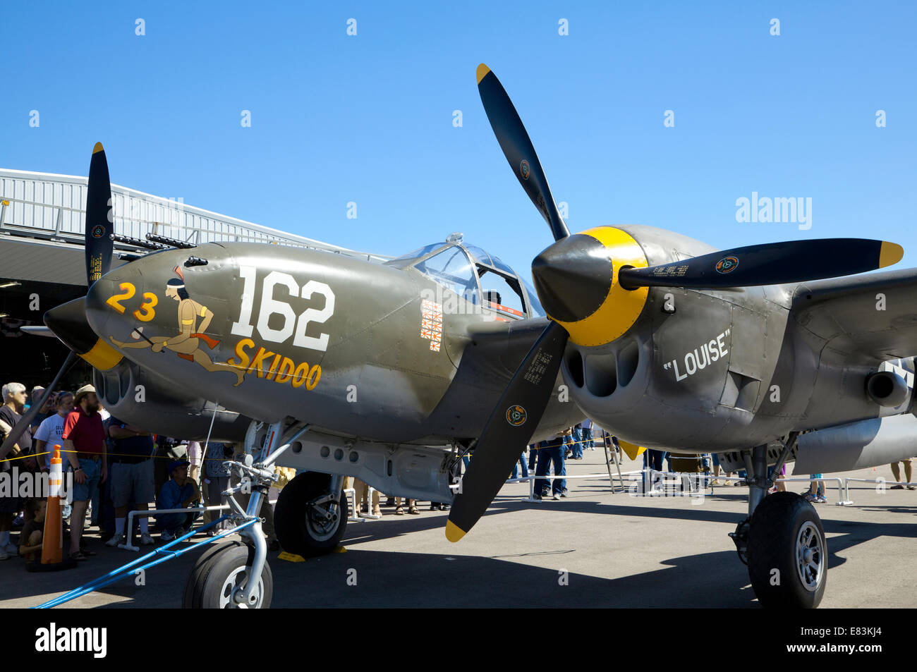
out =
[[[86,189],[86,223],[84,233],[84,253],[86,257],[86,284],[92,287],[93,282],[101,278],[111,268],[114,242],[109,237],[113,232],[112,222],[112,188],[108,179],[108,161],[105,160],[105,149],[101,142],[93,148],[93,158],[89,162],[89,182]],[[6,436],[0,446],[0,456],[7,452],[19,440],[19,436],[32,424],[39,410],[48,400],[63,375],[76,361],[77,354],[92,364],[96,369],[111,369],[120,360],[116,350],[108,346],[95,335],[85,318],[85,297],[51,308],[45,314],[45,324],[61,338],[63,344],[71,348],[64,359],[61,369],[51,384],[45,388],[39,400],[32,400],[22,420]],[[55,328],[56,327],[56,328]],[[75,348],[75,352],[74,352]],[[2,402],[6,402],[6,399]],[[2,403],[0,402],[0,403]]]

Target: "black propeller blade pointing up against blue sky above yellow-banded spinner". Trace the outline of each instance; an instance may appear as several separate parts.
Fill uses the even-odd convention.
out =
[[[551,227],[554,239],[568,237],[570,232],[547,186],[545,171],[541,168],[541,161],[538,160],[522,119],[503,89],[503,84],[483,63],[478,66],[478,93],[481,94],[481,103],[491,122],[493,134],[497,137],[506,160],[510,162],[516,179]]]

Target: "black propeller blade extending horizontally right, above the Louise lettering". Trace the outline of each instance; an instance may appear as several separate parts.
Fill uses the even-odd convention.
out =
[[[619,281],[635,287],[751,287],[836,278],[898,263],[900,245],[865,238],[790,240],[725,249],[646,269],[622,269]]]

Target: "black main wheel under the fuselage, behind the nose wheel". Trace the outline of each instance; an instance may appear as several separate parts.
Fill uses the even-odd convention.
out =
[[[274,531],[283,550],[314,557],[337,548],[347,527],[348,504],[343,491],[334,509],[332,500],[318,501],[330,483],[328,474],[307,471],[283,486],[274,507]]]

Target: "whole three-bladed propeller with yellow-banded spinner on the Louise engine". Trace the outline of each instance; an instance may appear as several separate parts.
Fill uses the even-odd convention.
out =
[[[642,249],[620,229],[600,227],[570,236],[503,84],[483,63],[477,78],[503,154],[555,239],[532,263],[538,299],[552,322],[484,425],[446,523],[447,539],[453,542],[478,522],[531,439],[547,409],[568,339],[580,345],[613,341],[642,312],[646,287],[725,289],[819,280],[883,268],[904,254],[899,245],[881,240],[829,238],[733,248],[647,266]]]

